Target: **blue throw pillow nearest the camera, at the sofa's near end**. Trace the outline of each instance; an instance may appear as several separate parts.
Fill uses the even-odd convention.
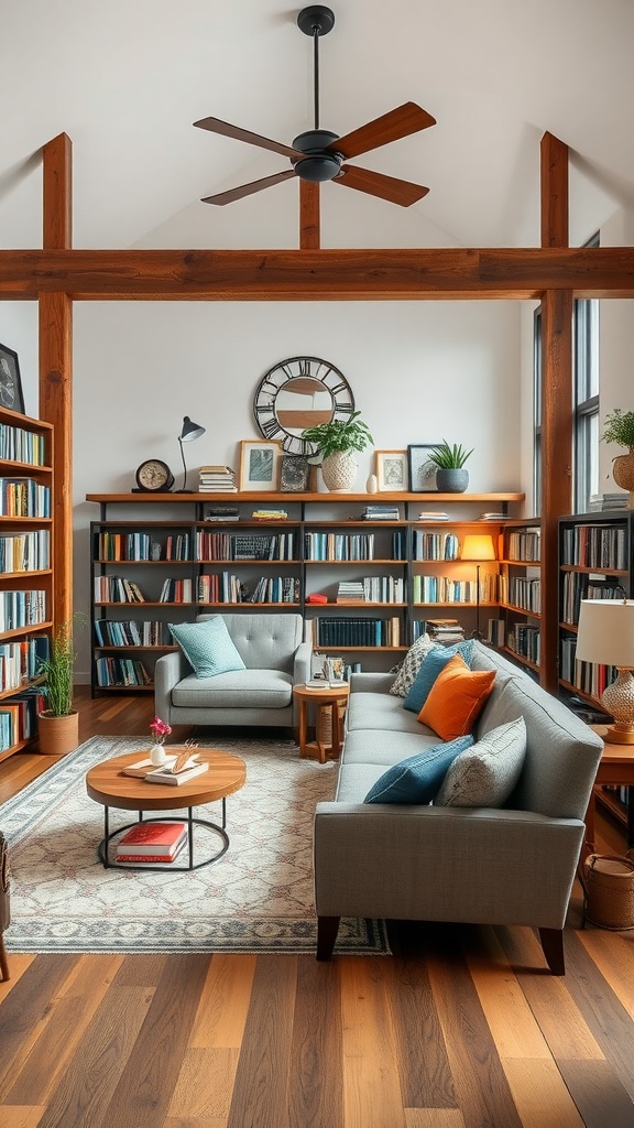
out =
[[[425,748],[415,756],[400,760],[377,779],[363,800],[364,803],[431,803],[456,757],[470,748],[470,733],[458,737],[448,744]]]

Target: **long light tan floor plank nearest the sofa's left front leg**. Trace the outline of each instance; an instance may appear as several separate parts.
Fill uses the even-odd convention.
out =
[[[344,1128],[405,1128],[384,963],[341,959]]]

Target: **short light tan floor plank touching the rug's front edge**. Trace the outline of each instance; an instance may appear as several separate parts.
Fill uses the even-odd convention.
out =
[[[255,955],[213,955],[190,1046],[235,1048],[243,1042],[255,975]]]

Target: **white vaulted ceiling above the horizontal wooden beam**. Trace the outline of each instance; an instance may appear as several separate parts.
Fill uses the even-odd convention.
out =
[[[297,246],[288,167],[193,129],[213,115],[290,144],[312,125],[312,45],[283,0],[2,0],[0,246],[41,245],[41,147],[73,143],[76,247]],[[322,125],[404,102],[438,124],[358,158],[428,185],[410,209],[322,188],[323,246],[536,246],[539,140],[571,148],[573,243],[634,199],[632,0],[332,0]],[[591,206],[589,202],[591,201]]]

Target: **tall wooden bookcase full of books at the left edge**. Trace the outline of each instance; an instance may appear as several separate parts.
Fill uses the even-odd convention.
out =
[[[0,408],[0,760],[37,737],[53,615],[53,428]]]

